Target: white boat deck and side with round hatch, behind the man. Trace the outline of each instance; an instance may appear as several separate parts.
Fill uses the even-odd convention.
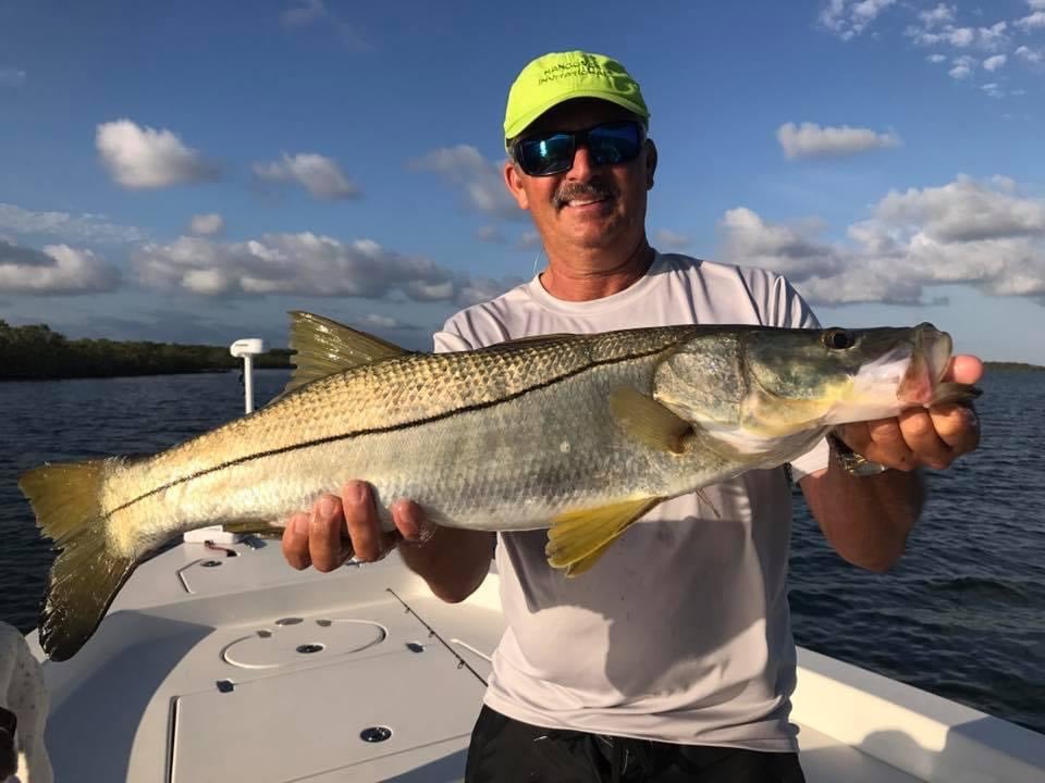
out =
[[[150,560],[95,638],[45,667],[56,780],[462,780],[504,629],[496,576],[452,606],[395,555],[319,574],[255,546]],[[799,663],[810,783],[1045,780],[1038,734],[808,650]]]

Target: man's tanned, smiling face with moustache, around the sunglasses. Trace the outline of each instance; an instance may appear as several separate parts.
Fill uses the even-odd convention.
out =
[[[634,119],[607,101],[578,99],[542,114],[522,136]],[[653,185],[655,164],[651,141],[638,158],[615,165],[595,165],[587,146],[580,145],[569,171],[529,176],[509,162],[504,177],[519,207],[530,211],[546,246],[630,250],[644,234],[647,191]]]

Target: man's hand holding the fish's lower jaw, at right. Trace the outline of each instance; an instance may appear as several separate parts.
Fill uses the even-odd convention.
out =
[[[974,384],[983,363],[972,356],[956,356],[945,381]],[[857,453],[889,468],[911,471],[946,468],[980,444],[980,419],[969,405],[945,403],[903,411],[895,419],[846,424],[837,434]]]

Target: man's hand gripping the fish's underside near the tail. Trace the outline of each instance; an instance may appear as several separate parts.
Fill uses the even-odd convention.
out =
[[[392,505],[396,530],[381,530],[370,485],[352,481],[341,497],[323,495],[311,511],[302,511],[287,520],[283,533],[283,557],[297,570],[315,566],[317,571],[333,571],[353,555],[365,562],[380,560],[399,540],[416,542],[426,525],[421,508],[411,500]]]

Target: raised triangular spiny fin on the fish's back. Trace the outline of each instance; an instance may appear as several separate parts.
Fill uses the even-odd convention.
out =
[[[334,373],[409,353],[394,343],[315,313],[291,313],[294,374],[283,394]]]

